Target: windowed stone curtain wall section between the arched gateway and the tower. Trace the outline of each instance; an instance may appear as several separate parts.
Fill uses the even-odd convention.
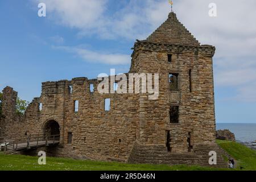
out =
[[[61,85],[57,83],[56,93],[48,92],[51,90],[48,84],[43,84],[43,115],[40,119],[48,121],[55,116],[53,119],[60,123],[63,131],[64,146],[72,146],[69,147],[72,152],[79,151],[86,158],[127,159],[136,139],[136,94],[100,94],[97,92],[98,81],[87,78],[74,78]],[[89,84],[94,84],[93,93],[90,93]],[[72,85],[72,93],[69,93],[68,85]],[[104,110],[105,98],[110,98],[110,111]],[[49,104],[49,99],[56,104]],[[79,101],[77,113],[74,101]],[[73,135],[71,144],[68,144],[68,133]]]

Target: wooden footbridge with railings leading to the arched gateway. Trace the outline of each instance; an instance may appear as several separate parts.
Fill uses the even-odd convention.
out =
[[[60,143],[60,135],[31,135],[23,138],[9,139],[0,137],[0,151],[20,151]]]

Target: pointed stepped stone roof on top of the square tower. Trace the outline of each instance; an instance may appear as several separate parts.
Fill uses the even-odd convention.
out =
[[[193,35],[179,22],[176,14],[171,12],[168,19],[148,38],[148,42],[200,46]]]

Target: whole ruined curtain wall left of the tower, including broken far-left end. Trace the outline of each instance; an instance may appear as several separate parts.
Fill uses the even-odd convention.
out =
[[[93,93],[89,90],[92,83]],[[4,126],[1,127],[1,137],[26,137],[26,131],[31,135],[43,135],[46,134],[46,123],[56,121],[63,144],[57,148],[56,156],[126,161],[136,139],[137,94],[100,94],[98,84],[97,80],[87,78],[45,82],[42,96],[28,105],[24,115],[15,114],[13,105],[17,93],[7,87],[3,90],[3,113],[9,117],[1,121]],[[72,93],[69,85],[73,87]],[[110,111],[104,110],[105,98],[111,100]],[[77,113],[74,110],[76,100],[79,101]],[[40,103],[43,105],[41,111]],[[11,106],[12,110],[6,106]],[[68,133],[73,134],[72,143],[68,143]]]

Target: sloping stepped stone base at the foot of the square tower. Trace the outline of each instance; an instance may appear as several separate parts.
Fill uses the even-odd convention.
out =
[[[195,146],[194,152],[167,152],[166,147],[159,145],[143,145],[135,142],[128,163],[149,163],[149,164],[187,164],[205,167],[226,168],[226,162],[221,155],[217,155],[217,164],[209,165],[209,151],[214,150],[218,153],[220,148],[201,144]]]

